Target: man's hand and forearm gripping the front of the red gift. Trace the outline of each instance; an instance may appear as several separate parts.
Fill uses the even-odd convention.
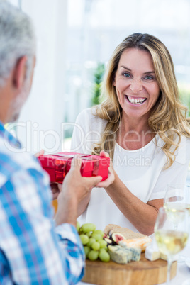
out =
[[[57,197],[58,207],[55,215],[57,225],[71,223],[76,225],[79,203],[90,193],[102,177],[82,177],[80,173],[82,160],[76,155],[71,169],[67,173],[60,194]],[[58,184],[60,187],[60,184]]]

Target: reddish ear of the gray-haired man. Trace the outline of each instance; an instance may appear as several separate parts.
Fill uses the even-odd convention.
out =
[[[16,62],[16,66],[13,69],[13,87],[15,89],[21,89],[23,87],[23,83],[26,79],[26,62],[27,57],[21,57]]]

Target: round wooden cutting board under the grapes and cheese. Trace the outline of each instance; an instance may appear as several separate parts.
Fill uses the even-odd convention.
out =
[[[177,262],[172,263],[171,279],[176,276]],[[157,259],[151,262],[141,254],[139,262],[117,264],[86,260],[83,282],[99,285],[154,285],[167,280],[167,262]]]

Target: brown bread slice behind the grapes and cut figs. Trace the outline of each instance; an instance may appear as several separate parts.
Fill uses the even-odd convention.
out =
[[[106,235],[111,235],[112,233],[121,233],[122,235],[124,235],[126,240],[147,237],[147,235],[143,235],[142,233],[135,233],[133,232],[133,230],[129,230],[128,228],[122,228],[119,225],[114,224],[106,225],[104,233],[106,233]]]

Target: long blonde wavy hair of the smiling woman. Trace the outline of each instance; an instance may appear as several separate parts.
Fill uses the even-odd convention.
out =
[[[158,133],[164,142],[162,150],[167,156],[167,164],[165,166],[165,169],[167,169],[172,166],[175,160],[174,152],[179,147],[181,135],[190,138],[189,119],[186,119],[187,108],[181,104],[179,99],[172,57],[167,47],[160,40],[148,34],[133,33],[133,35],[129,35],[116,47],[108,62],[101,94],[105,100],[101,105],[95,107],[96,116],[108,122],[102,133],[100,143],[96,144],[92,152],[99,155],[101,150],[105,150],[113,159],[114,147],[122,117],[122,108],[118,102],[113,81],[121,55],[128,48],[146,50],[152,55],[155,76],[160,87],[160,96],[152,108],[148,124],[152,133]]]

